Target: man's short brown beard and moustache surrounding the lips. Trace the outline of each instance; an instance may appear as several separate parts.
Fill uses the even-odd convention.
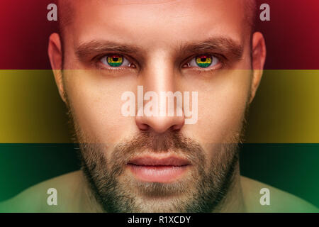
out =
[[[202,146],[179,131],[162,134],[142,131],[133,139],[118,143],[111,151],[106,143],[88,143],[94,138],[82,131],[71,109],[69,118],[80,148],[82,171],[96,201],[106,212],[218,211],[238,172],[237,148],[244,127],[241,133],[233,133],[227,143],[211,145],[209,152],[214,155],[208,160]],[[242,123],[245,123],[245,118]],[[106,153],[111,153],[109,158]],[[191,163],[191,171],[171,183],[140,182],[126,172],[133,157],[150,153],[184,157]]]

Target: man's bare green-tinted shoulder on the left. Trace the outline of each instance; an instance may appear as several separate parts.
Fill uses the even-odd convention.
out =
[[[35,184],[17,196],[0,204],[1,212],[64,212],[70,211],[69,204],[77,204],[77,192],[83,181],[82,171],[48,179]],[[49,206],[47,198],[57,194],[57,206]]]

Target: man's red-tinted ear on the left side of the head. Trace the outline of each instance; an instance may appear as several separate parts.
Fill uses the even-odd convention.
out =
[[[49,55],[51,67],[53,74],[55,76],[55,83],[57,84],[57,89],[59,90],[62,100],[67,104],[65,98],[65,87],[63,85],[62,78],[62,45],[60,40],[60,35],[57,33],[52,33],[49,38],[49,46],[47,48],[47,54]]]

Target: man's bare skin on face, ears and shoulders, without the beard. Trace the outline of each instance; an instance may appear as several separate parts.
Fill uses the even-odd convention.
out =
[[[82,142],[107,144],[104,155],[108,159],[115,145],[132,139],[140,131],[158,135],[169,130],[180,131],[186,137],[196,139],[203,147],[206,159],[213,160],[218,153],[214,145],[239,139],[245,109],[254,99],[266,58],[263,35],[254,33],[251,36],[243,1],[213,0],[201,1],[201,4],[189,0],[130,1],[130,4],[124,1],[77,1],[72,4],[72,11],[72,21],[67,23],[65,29],[68,32],[63,37],[64,51],[60,35],[54,33],[50,36],[48,53],[60,95],[72,108],[79,128],[89,135]],[[181,51],[181,47],[206,40],[225,43],[221,40],[226,39],[242,50],[240,56],[234,56],[229,47],[230,51],[217,48],[213,53],[225,55],[228,59],[225,64],[216,65],[209,71],[182,67],[194,52]],[[132,50],[137,48],[128,54],[136,67],[112,71],[101,62],[92,61],[97,54],[87,51],[87,44],[91,45],[92,40],[104,44],[116,42]],[[62,68],[67,69],[63,74]],[[184,115],[122,116],[121,94],[126,91],[136,94],[138,85],[143,85],[145,92],[158,94],[162,91],[198,92],[198,122],[186,125]],[[14,207],[18,201],[28,204],[28,199],[21,198],[46,191],[49,185],[57,185],[58,192],[63,192],[69,202],[62,202],[58,208],[39,205],[35,211],[101,211],[99,204],[89,199],[92,195],[81,171],[28,189],[8,201],[6,207]],[[269,188],[276,198],[273,201],[277,202],[270,208],[259,204],[262,187]],[[284,208],[281,204],[289,206]],[[282,212],[289,211],[286,207],[300,206],[306,210],[315,209],[296,196],[240,177],[237,166],[233,183],[218,211]]]

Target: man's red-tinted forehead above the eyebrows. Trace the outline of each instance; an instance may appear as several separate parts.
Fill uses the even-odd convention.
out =
[[[249,33],[244,4],[225,0],[69,1],[65,7],[72,11],[65,35],[74,44],[99,39],[147,48],[214,36],[241,43]]]

